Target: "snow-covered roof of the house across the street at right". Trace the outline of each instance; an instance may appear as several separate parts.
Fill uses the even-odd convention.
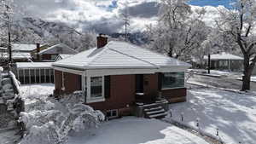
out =
[[[208,60],[207,55],[204,56],[204,60]],[[219,54],[211,55],[211,60],[243,60],[243,58],[237,55],[222,52]]]

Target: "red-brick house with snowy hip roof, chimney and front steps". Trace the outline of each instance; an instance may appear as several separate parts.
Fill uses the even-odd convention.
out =
[[[131,113],[134,105],[139,116],[156,118],[166,114],[158,113],[164,112],[162,104],[186,101],[184,75],[189,64],[131,43],[108,43],[102,35],[97,37],[97,48],[52,66],[55,95],[82,90],[84,103],[109,118]]]

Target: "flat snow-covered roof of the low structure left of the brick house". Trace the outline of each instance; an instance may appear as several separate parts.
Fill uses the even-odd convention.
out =
[[[17,68],[51,68],[52,62],[16,62]]]

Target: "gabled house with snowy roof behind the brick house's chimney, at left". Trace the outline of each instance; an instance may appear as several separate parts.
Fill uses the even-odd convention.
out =
[[[40,59],[43,61],[55,61],[58,55],[74,55],[77,53],[78,52],[75,49],[60,43],[40,51],[38,55],[40,55]]]

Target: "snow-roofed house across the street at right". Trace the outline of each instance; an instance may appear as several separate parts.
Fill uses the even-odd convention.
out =
[[[208,56],[204,56],[204,66],[208,66]],[[211,69],[228,70],[231,72],[241,72],[243,58],[229,53],[218,53],[211,55]]]

